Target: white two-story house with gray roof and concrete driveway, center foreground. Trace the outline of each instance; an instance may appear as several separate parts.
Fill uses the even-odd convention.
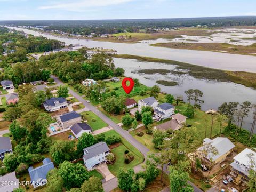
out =
[[[93,146],[84,149],[84,165],[88,171],[95,169],[98,165],[107,162],[106,156],[109,154],[110,149],[105,142],[98,142]]]

